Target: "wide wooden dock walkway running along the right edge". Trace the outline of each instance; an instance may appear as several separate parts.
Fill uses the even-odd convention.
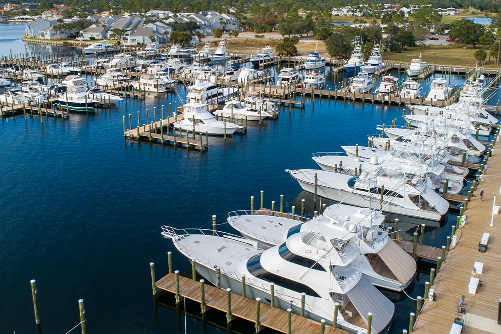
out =
[[[493,197],[499,192],[501,180],[501,147],[494,147],[489,168],[483,176],[483,201],[473,197],[465,215],[466,223],[458,226],[455,236],[457,245],[452,246],[445,263],[440,266],[434,284],[436,301],[426,301],[421,314],[417,317],[414,333],[448,333],[453,322],[464,322],[468,333],[500,333],[497,324],[499,286],[501,286],[501,221],[494,215],[494,226],[490,225]],[[478,251],[478,243],[484,232],[490,233],[485,253]],[[473,273],[473,264],[483,263],[482,274]],[[476,276],[481,286],[476,294],[469,293],[470,278]],[[475,287],[476,284],[473,285]],[[465,314],[458,313],[461,295],[465,295],[463,308]],[[411,325],[411,323],[410,323]],[[397,330],[398,332],[398,330]]]

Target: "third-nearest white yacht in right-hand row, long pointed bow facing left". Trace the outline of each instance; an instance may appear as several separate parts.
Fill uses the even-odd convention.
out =
[[[304,190],[313,193],[316,183],[320,196],[350,205],[370,207],[376,201],[384,212],[428,220],[441,220],[449,209],[449,203],[421,178],[417,166],[381,168],[376,157],[370,165],[375,168],[366,168],[358,176],[315,169],[287,172]]]

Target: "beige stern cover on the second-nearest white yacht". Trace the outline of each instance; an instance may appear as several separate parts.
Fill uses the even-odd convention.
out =
[[[402,284],[407,283],[416,273],[416,261],[393,239],[388,238],[388,243],[377,254]]]

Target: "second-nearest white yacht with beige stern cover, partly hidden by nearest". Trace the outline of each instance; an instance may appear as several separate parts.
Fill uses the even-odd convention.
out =
[[[388,238],[384,215],[376,210],[334,204],[313,220],[293,215],[271,215],[266,210],[234,211],[228,214],[227,221],[245,238],[257,241],[263,249],[281,245],[297,233],[317,234],[323,230],[319,229],[321,224],[329,227],[356,224],[359,233],[353,237],[360,243],[362,272],[367,280],[388,298],[396,300],[407,297],[403,290],[413,287],[416,262]],[[327,236],[324,238],[328,239]]]

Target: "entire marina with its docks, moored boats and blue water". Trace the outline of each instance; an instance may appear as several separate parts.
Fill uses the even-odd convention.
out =
[[[86,299],[89,327],[92,321],[99,330],[116,331],[122,316],[104,313],[123,300],[104,295],[111,279],[121,275],[125,277],[124,288],[133,291],[130,299],[134,305],[119,327],[134,331],[173,332],[171,324],[184,316],[185,323],[178,323],[178,328],[187,332],[215,333],[229,328],[228,332],[401,333],[405,329],[425,333],[432,328],[447,332],[455,324],[471,332],[492,332],[497,325],[498,282],[496,260],[487,256],[496,251],[496,235],[492,227],[484,225],[491,220],[492,195],[498,189],[495,143],[501,73],[425,60],[426,65],[412,77],[422,92],[411,82],[405,87],[416,93],[409,96],[401,94],[404,83],[409,83],[409,63],[374,63],[373,72],[362,75],[364,83],[353,86],[353,78],[361,77],[364,67],[358,68],[355,60],[351,68],[346,62],[321,57],[318,50],[308,56],[279,57],[270,54],[271,48],[260,53],[270,57],[254,59],[253,54],[227,54],[227,43],[221,41],[217,53],[212,53],[216,48],[210,46],[203,54],[193,54],[192,59],[219,63],[191,64],[190,73],[173,63],[163,67],[162,61],[160,66],[150,67],[154,73],[148,73],[151,63],[147,61],[163,53],[155,46],[150,47],[151,53],[136,47],[92,53],[66,47],[71,55],[68,51],[50,54],[28,48],[23,55],[2,58],[5,69],[16,65],[19,70],[37,71],[43,77],[41,90],[48,89],[47,94],[37,95],[26,88],[35,84],[19,78],[18,70],[5,71],[3,76],[12,81],[12,89],[27,95],[18,100],[6,97],[5,102],[0,99],[7,157],[0,166],[6,171],[6,189],[12,191],[6,191],[5,203],[14,197],[25,198],[24,205],[40,208],[40,217],[23,210],[4,215],[21,233],[53,221],[48,223],[50,230],[37,232],[47,244],[34,240],[35,248],[30,250],[35,254],[33,259],[13,244],[13,257],[2,259],[0,264],[27,261],[36,269],[25,273],[13,266],[10,276],[20,276],[26,282],[28,276],[34,276],[40,291],[50,291],[61,300],[61,305],[54,305],[44,300],[47,296],[42,297],[41,292],[44,331],[63,331],[78,323],[74,317],[59,322],[48,314],[49,308],[68,308],[74,301],[66,298],[75,299],[76,295]],[[187,67],[183,55],[175,59]],[[373,56],[377,61],[377,49]],[[115,59],[116,67],[106,68],[106,61],[96,63],[104,58],[110,64]],[[138,62],[141,59],[145,63]],[[318,62],[325,62],[325,67],[319,70]],[[261,73],[259,77],[236,79],[240,78],[238,71],[253,64]],[[47,70],[51,65],[55,67]],[[115,73],[103,78],[114,72],[110,69]],[[193,71],[200,72],[195,77]],[[475,86],[480,77],[481,85]],[[437,85],[448,89],[441,91],[441,97],[433,93],[427,99]],[[66,91],[56,89],[63,87]],[[481,87],[480,91],[475,87]],[[9,90],[0,87],[0,94]],[[450,143],[444,144],[448,139]],[[30,145],[33,153],[19,150],[18,142]],[[416,150],[410,143],[419,143]],[[348,149],[345,145],[352,146]],[[78,152],[71,153],[76,147]],[[324,165],[311,160],[312,154],[322,151],[342,152],[342,156]],[[376,161],[371,156],[376,156]],[[16,171],[21,161],[36,166],[28,179]],[[117,166],[124,168],[117,172]],[[384,173],[389,170],[393,174]],[[303,176],[310,173],[311,177],[308,182],[301,181],[300,176],[291,177],[294,171],[302,171]],[[32,181],[42,178],[45,187]],[[346,179],[346,187],[366,189],[370,195],[351,200],[348,193],[354,190],[343,188],[347,193],[342,196],[329,192],[326,185],[331,186],[331,178],[337,180],[332,181],[336,191],[341,192],[339,180]],[[96,190],[95,183],[104,188]],[[144,192],[135,184],[150,184],[152,190]],[[158,185],[163,189],[155,190]],[[481,203],[480,189],[485,191]],[[251,197],[249,203],[252,194],[258,196]],[[360,192],[358,196],[366,195]],[[67,199],[73,204],[54,207]],[[414,203],[412,208],[409,199]],[[337,202],[352,206],[353,212],[335,216]],[[269,228],[260,229],[256,223],[252,237],[228,223],[226,217],[242,208],[242,217],[248,215],[254,221],[262,216],[268,221],[263,226]],[[365,213],[369,218],[364,225],[359,216],[363,215],[360,210],[366,209],[375,214]],[[186,210],[189,213],[180,217],[178,212]],[[159,211],[167,211],[161,221],[144,218]],[[82,217],[88,217],[85,224]],[[492,217],[495,226],[496,216]],[[276,220],[279,218],[282,220]],[[272,230],[276,221],[280,224]],[[163,230],[159,230],[162,225]],[[297,229],[290,231],[289,226]],[[190,228],[204,231],[203,238],[194,236]],[[183,232],[187,230],[189,233]],[[272,231],[285,234],[264,247],[263,238]],[[488,248],[479,253],[478,243],[483,242],[485,232],[490,233]],[[71,238],[60,245],[55,240],[61,233]],[[321,234],[327,241],[324,244],[309,233]],[[188,236],[205,243],[205,251],[201,247],[195,250]],[[20,238],[26,241],[29,237],[33,235]],[[76,249],[71,239],[78,240]],[[95,252],[97,243],[105,245],[102,251]],[[38,247],[45,256],[59,252],[56,261],[42,260],[34,251]],[[305,262],[288,257],[291,254],[301,254]],[[400,261],[400,268],[388,254],[398,254],[394,258]],[[148,260],[152,261],[150,273]],[[57,274],[42,271],[37,262]],[[91,262],[98,265],[92,267]],[[485,263],[484,276],[476,264],[472,269],[475,262]],[[66,267],[74,272],[67,272]],[[148,320],[149,274],[155,321]],[[471,278],[481,281],[474,285]],[[97,280],[104,281],[103,285]],[[288,285],[291,280],[304,283],[294,289]],[[89,284],[77,283],[82,281]],[[52,287],[65,282],[64,291]],[[11,289],[26,289],[11,278],[6,284]],[[473,287],[478,297],[467,292]],[[360,291],[368,293],[372,301],[359,297]],[[6,294],[9,305],[13,304],[16,293]],[[466,313],[457,307],[457,297],[463,294],[467,295],[463,299]],[[428,300],[430,295],[435,300]],[[469,299],[473,299],[471,303]],[[8,319],[2,327],[29,331],[34,324],[33,313],[27,311],[32,302],[23,296],[19,305],[13,306],[23,324]],[[167,307],[157,310],[156,305]],[[137,317],[141,317],[139,322]]]

